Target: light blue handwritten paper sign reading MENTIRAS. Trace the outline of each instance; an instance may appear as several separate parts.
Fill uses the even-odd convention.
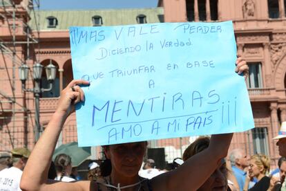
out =
[[[70,27],[80,146],[254,127],[231,21]]]

